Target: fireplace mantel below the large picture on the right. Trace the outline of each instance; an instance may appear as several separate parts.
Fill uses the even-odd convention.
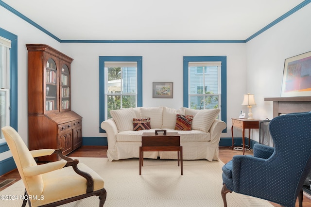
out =
[[[311,96],[264,98],[273,101],[273,117],[282,113],[311,111]]]

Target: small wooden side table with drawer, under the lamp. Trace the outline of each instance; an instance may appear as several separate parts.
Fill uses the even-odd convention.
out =
[[[232,118],[232,127],[231,127],[231,134],[232,134],[232,149],[234,147],[234,140],[233,140],[233,127],[242,128],[242,142],[243,142],[243,155],[245,153],[245,128],[248,128],[248,144],[250,145],[250,134],[251,128],[259,128],[259,121],[260,119],[240,119],[240,118]],[[249,146],[250,147],[250,146]]]

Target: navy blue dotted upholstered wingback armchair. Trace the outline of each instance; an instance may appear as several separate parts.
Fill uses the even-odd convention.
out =
[[[275,148],[254,145],[253,156],[234,156],[223,166],[222,197],[226,193],[262,198],[302,207],[302,186],[311,170],[311,112],[275,117],[269,125]]]

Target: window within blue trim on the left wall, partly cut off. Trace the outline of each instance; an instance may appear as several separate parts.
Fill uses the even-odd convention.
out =
[[[11,41],[0,37],[0,128],[10,125],[10,48]]]

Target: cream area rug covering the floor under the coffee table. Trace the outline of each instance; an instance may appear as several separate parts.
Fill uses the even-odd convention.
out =
[[[139,175],[138,159],[109,162],[107,158],[77,158],[104,178],[107,199],[104,207],[223,207],[222,161],[184,160],[183,175],[176,160],[144,159]],[[20,207],[21,181],[0,191],[16,200],[0,200],[0,206]],[[2,198],[3,196],[1,196]],[[228,207],[272,207],[265,200],[227,193]],[[96,196],[61,207],[97,207]]]

